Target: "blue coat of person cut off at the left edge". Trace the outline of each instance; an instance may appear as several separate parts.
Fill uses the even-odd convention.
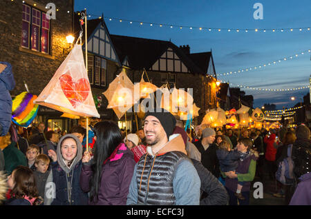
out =
[[[0,64],[6,65],[3,72],[0,72],[0,136],[5,136],[11,125],[12,98],[9,91],[14,89],[15,80],[10,63],[0,61]]]

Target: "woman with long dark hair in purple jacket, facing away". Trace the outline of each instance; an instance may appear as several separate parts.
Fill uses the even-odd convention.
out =
[[[112,121],[96,123],[95,145],[84,152],[80,185],[90,192],[89,205],[126,205],[135,161],[131,150],[122,143],[119,127]]]

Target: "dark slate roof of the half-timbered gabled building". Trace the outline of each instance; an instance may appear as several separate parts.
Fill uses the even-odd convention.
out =
[[[81,30],[79,19],[80,15],[75,12],[75,22],[74,22],[74,32],[76,39],[79,37],[79,32]],[[98,25],[104,25],[108,34],[109,30],[106,27],[104,19],[91,19],[88,20],[88,38],[93,34],[94,30]],[[84,26],[82,26],[84,28]],[[187,54],[182,49],[180,49],[171,41],[160,41],[156,39],[144,39],[133,36],[120,36],[109,34],[117,57],[120,63],[123,63],[127,56],[129,61],[129,67],[135,70],[149,70],[151,66],[156,63],[160,56],[171,48],[184,63],[189,72],[192,74],[207,74],[207,69],[209,67],[209,61],[211,60],[211,52],[200,52]],[[82,37],[82,43],[84,43],[85,37]],[[211,63],[214,64],[214,63]],[[214,66],[213,66],[214,67]]]

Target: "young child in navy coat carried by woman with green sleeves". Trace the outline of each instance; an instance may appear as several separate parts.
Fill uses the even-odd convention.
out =
[[[238,144],[242,144],[238,142]],[[219,144],[219,149],[216,150],[216,155],[219,160],[220,171],[228,172],[228,171],[235,171],[238,168],[238,160],[244,160],[249,153],[242,153],[238,150],[231,150],[230,144],[227,141],[223,140]],[[238,174],[238,173],[236,173]],[[221,180],[220,180],[221,181]],[[238,199],[245,200],[245,197],[242,196],[241,190],[244,185],[244,182],[238,182],[238,187],[236,189],[236,196]]]

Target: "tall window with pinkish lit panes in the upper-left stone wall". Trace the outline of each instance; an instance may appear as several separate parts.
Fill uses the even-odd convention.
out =
[[[45,12],[23,4],[21,46],[37,52],[50,53],[50,20]]]

